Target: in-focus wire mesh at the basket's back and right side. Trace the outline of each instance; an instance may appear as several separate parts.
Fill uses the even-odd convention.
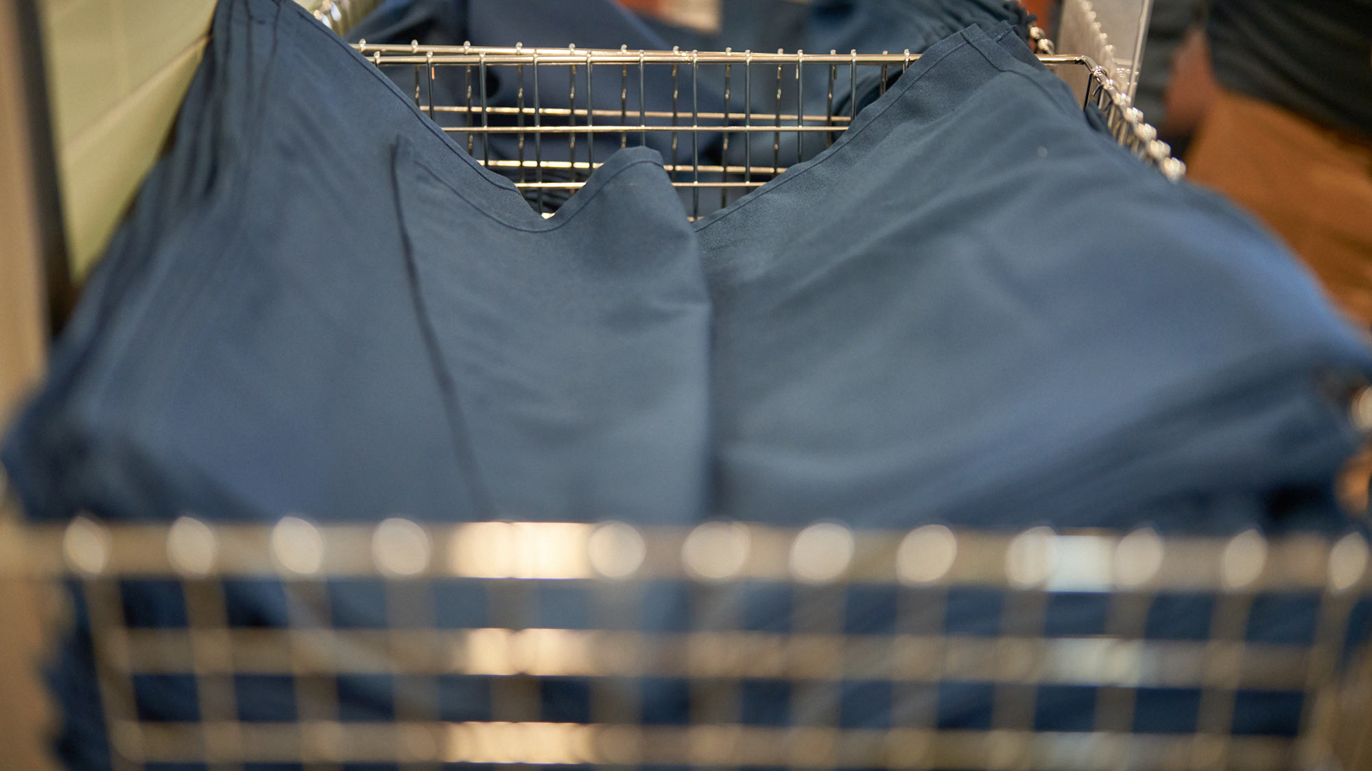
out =
[[[1040,60],[1088,82],[1083,108],[1169,178],[1184,165],[1085,56]],[[833,144],[864,96],[878,97],[918,54],[760,54],[355,45],[466,151],[550,214],[617,148],[657,147],[691,217],[727,206]],[[597,93],[600,95],[597,97]],[[608,95],[608,96],[606,96]],[[667,96],[670,95],[670,97]]]

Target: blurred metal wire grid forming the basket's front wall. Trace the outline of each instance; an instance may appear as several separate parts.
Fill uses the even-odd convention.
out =
[[[85,514],[26,538],[85,609],[115,768],[1321,768],[1369,589],[1357,534]],[[1253,638],[1273,593],[1308,639]],[[1202,635],[1154,637],[1179,595],[1211,600]],[[1102,628],[1061,628],[1083,597]],[[1254,704],[1288,728],[1244,726]]]

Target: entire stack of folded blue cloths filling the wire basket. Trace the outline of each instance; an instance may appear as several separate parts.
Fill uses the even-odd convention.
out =
[[[660,162],[608,156],[545,220],[295,3],[224,0],[174,145],[5,442],[25,508],[1350,527],[1331,484],[1360,440],[1343,399],[1372,373],[1362,335],[1249,220],[1091,128],[1008,25],[930,45],[834,147],[700,222]],[[368,591],[338,589],[332,621],[375,615]],[[226,594],[246,626],[300,619],[279,586]],[[130,623],[159,626],[182,598],[134,582],[125,601]],[[996,635],[1003,602],[949,598],[947,628]],[[1314,623],[1265,608],[1258,639]],[[844,613],[845,631],[877,634],[895,601],[858,587]],[[1106,609],[1056,613],[1096,634]],[[84,624],[54,686],[63,759],[99,768]],[[383,690],[343,696],[384,716]],[[643,694],[645,716],[689,717],[683,689]],[[279,696],[240,687],[243,719],[289,712]],[[984,723],[984,696],[943,691],[940,724]],[[1069,696],[1044,709],[1093,709]],[[760,713],[805,709],[759,698]],[[1148,701],[1139,730],[1191,698]],[[1251,704],[1235,730],[1299,720],[1298,702]],[[139,705],[196,713],[176,678],[145,682]],[[445,719],[486,719],[458,707]],[[890,700],[853,709],[899,724]]]

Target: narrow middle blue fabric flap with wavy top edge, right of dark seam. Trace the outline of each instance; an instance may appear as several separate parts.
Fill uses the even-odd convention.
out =
[[[480,438],[473,455],[493,509],[697,516],[708,296],[661,156],[617,152],[550,220],[477,167],[439,167],[409,145],[395,185],[420,299],[453,398]],[[498,193],[472,195],[483,185]],[[547,333],[531,335],[536,327]]]

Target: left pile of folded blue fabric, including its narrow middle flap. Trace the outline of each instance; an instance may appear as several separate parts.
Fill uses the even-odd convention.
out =
[[[398,198],[397,154],[471,206],[439,213],[418,188]],[[295,3],[220,3],[174,147],[4,444],[26,512],[698,519],[708,295],[657,162],[649,150],[611,158],[568,204],[575,224],[571,211],[545,222]],[[454,228],[443,255],[416,213]],[[462,335],[473,347],[453,347]],[[176,587],[122,589],[139,623],[184,623]],[[375,610],[372,594],[344,589],[331,623]],[[321,623],[279,582],[225,591],[240,626]],[[59,752],[103,768],[85,624],[78,608],[51,672]],[[369,682],[347,690],[354,712],[384,704]],[[240,707],[280,713],[279,685],[239,683]],[[148,719],[196,715],[188,678],[141,678],[136,691]]]

